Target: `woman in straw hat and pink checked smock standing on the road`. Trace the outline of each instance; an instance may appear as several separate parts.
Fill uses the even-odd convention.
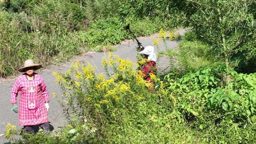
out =
[[[11,102],[13,111],[19,113],[19,124],[24,126],[26,133],[34,133],[34,125],[40,125],[47,131],[50,130],[48,121],[49,94],[43,77],[34,73],[42,65],[34,64],[28,59],[24,62],[24,67],[19,72],[25,72],[16,80],[12,92]],[[17,96],[19,94],[19,111],[17,107]]]

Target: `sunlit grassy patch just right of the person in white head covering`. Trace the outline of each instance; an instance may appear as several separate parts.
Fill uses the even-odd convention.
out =
[[[161,34],[159,34],[160,36]],[[177,50],[168,48],[163,39],[163,44],[166,45],[164,51],[158,52],[158,57],[165,56],[169,59],[169,73],[164,74],[161,79],[168,77],[176,80],[181,78],[189,71],[198,70],[201,67],[217,65],[220,60],[214,53],[212,46],[196,40],[196,36],[192,31],[187,31],[184,36],[179,36],[174,32],[170,32],[172,40],[179,40]],[[160,39],[161,37],[159,37]],[[179,38],[179,39],[178,39]]]

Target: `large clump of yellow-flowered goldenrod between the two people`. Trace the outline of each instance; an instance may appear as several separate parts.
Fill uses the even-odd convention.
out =
[[[119,129],[117,117],[125,114],[121,111],[132,112],[139,102],[152,96],[147,89],[148,83],[138,74],[141,71],[135,68],[138,64],[109,53],[107,58],[103,58],[102,66],[108,77],[103,73],[97,74],[91,64],[83,65],[79,61],[74,62],[65,73],[54,73],[56,82],[63,89],[62,96],[54,96],[60,98],[59,102],[64,107],[70,122],[68,131],[74,132],[70,134],[72,137],[79,131],[77,123],[93,130],[95,135],[107,135],[103,132],[109,125],[112,125],[111,129]],[[152,80],[158,79],[154,75]],[[159,94],[167,94],[163,84],[158,83]]]

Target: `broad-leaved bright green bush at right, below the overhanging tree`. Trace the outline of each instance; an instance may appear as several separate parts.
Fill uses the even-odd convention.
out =
[[[200,68],[176,81],[169,79],[168,91],[186,119],[196,121],[201,129],[222,120],[254,127],[256,75],[235,71],[225,75],[223,66]]]

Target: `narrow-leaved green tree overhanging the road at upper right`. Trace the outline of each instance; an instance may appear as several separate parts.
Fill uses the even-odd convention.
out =
[[[124,1],[121,18],[160,18],[173,27],[195,31],[195,38],[213,46],[226,69],[255,72],[255,1],[252,0],[138,0]],[[143,9],[143,10],[140,10]]]

